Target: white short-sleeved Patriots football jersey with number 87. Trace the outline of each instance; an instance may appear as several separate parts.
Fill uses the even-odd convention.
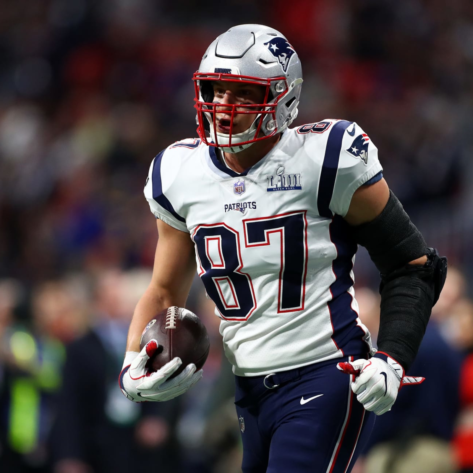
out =
[[[356,189],[382,177],[368,135],[344,120],[288,129],[242,174],[217,156],[198,139],[172,144],[144,193],[158,219],[190,233],[235,374],[371,351],[342,219]]]

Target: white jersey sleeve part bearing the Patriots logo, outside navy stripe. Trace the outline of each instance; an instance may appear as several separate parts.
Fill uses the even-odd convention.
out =
[[[339,123],[340,133],[347,122]],[[383,168],[378,160],[377,147],[357,123],[348,122],[341,134],[342,143],[329,209],[344,217],[355,191],[368,181],[374,183],[381,179]]]

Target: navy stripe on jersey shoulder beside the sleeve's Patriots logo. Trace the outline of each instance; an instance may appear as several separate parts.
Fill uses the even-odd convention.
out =
[[[320,216],[329,219],[333,217],[329,206],[332,200],[335,178],[337,177],[343,133],[352,123],[346,120],[340,120],[335,123],[332,130],[330,130],[327,146],[325,147],[324,163],[320,172],[319,192],[317,195],[317,210]]]

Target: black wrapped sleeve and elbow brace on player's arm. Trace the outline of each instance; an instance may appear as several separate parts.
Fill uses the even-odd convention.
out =
[[[401,203],[390,191],[381,214],[353,227],[381,273],[378,349],[409,369],[424,336],[433,305],[447,276],[447,258],[428,248]],[[427,255],[425,265],[407,264]]]

